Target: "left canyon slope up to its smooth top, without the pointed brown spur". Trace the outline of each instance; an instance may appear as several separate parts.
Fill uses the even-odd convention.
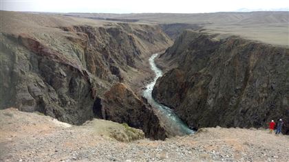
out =
[[[95,117],[95,100],[118,82],[141,89],[144,58],[171,45],[157,25],[3,11],[1,22],[0,108],[70,124]]]

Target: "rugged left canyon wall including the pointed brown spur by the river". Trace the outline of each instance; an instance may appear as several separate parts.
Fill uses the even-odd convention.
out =
[[[47,27],[44,34],[6,30],[1,34],[1,108],[39,111],[76,125],[108,119],[140,128],[146,137],[167,137],[136,92],[151,76],[145,60],[172,44],[158,25],[61,25]]]

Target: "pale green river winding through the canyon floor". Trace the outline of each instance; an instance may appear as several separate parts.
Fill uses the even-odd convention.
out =
[[[158,80],[158,78],[162,76],[162,71],[158,67],[156,67],[156,57],[158,57],[158,54],[153,54],[149,58],[149,64],[151,65],[151,69],[155,72],[156,77],[153,79],[153,82],[147,84],[146,89],[143,92],[143,96],[147,98],[149,104],[151,104],[151,106],[155,108],[157,115],[162,120],[164,127],[169,132],[169,135],[189,135],[194,131],[191,130],[186,124],[184,124],[184,122],[182,122],[178,115],[175,115],[175,113],[173,113],[171,108],[156,102],[156,100],[154,100],[152,97],[153,86],[155,86],[156,80]]]

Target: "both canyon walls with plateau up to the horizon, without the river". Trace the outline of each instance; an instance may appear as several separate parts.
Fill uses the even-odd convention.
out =
[[[78,126],[106,119],[164,140],[178,133],[142,96],[154,78],[149,58],[158,53],[164,76],[153,98],[189,128],[266,128],[282,118],[288,135],[287,14],[1,11],[0,108]],[[251,36],[247,30],[258,26]]]

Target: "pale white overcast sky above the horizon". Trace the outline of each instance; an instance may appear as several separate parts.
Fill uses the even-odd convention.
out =
[[[0,0],[1,10],[34,12],[200,13],[289,10],[288,0]]]

